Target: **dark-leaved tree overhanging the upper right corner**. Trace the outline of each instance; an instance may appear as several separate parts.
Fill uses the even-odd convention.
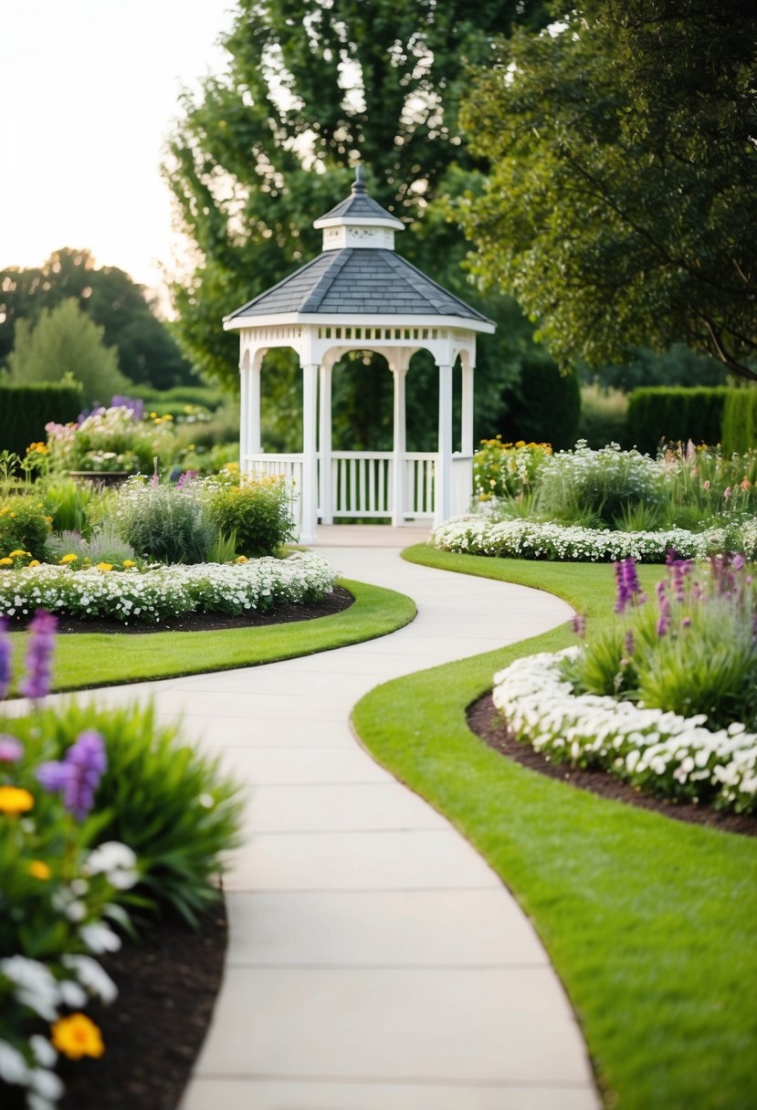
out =
[[[553,353],[682,342],[757,377],[754,9],[577,0],[499,41],[464,123],[492,167],[461,209],[475,270]]]

